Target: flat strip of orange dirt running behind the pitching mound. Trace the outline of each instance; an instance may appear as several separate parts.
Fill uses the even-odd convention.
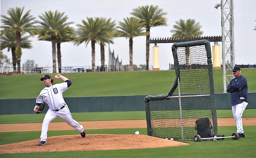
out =
[[[79,122],[85,129],[146,128],[146,120]],[[255,126],[256,118],[243,118],[244,126]],[[218,118],[218,126],[236,126],[234,118]],[[42,123],[0,124],[0,132],[41,131]],[[66,122],[51,122],[48,130],[74,130]]]

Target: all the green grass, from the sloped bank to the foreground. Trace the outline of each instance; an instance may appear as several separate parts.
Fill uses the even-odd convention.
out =
[[[54,76],[55,74],[50,74]],[[147,95],[166,94],[174,82],[175,72],[146,71],[146,72],[97,72],[63,74],[72,80],[72,86],[64,93],[71,96],[114,96],[114,95]],[[256,69],[242,69],[242,75],[248,80],[248,91],[256,92]],[[42,74],[0,75],[0,98],[36,98],[44,87],[40,78]],[[62,82],[56,80],[55,83]],[[214,70],[214,84],[222,85],[222,70]],[[136,112],[88,112],[72,113],[78,122],[97,120],[145,120],[144,111]],[[232,118],[232,110],[217,110],[218,118]],[[246,109],[243,117],[256,117],[256,109]],[[0,115],[0,124],[42,122],[44,114]],[[56,119],[53,122],[62,122]],[[85,127],[86,128],[86,127]],[[86,130],[86,134],[147,134],[146,128],[98,129]],[[34,157],[88,157],[88,158],[251,158],[255,157],[256,126],[244,126],[246,138],[213,141],[181,141],[190,145],[170,148],[110,150],[110,151],[81,151],[81,152],[44,152],[0,154],[1,158],[34,158]],[[236,126],[220,126],[218,134],[231,136],[236,132]],[[48,131],[48,136],[77,134],[76,130]],[[40,131],[35,132],[0,132],[0,145],[38,139]],[[18,147],[18,146],[17,146]],[[45,146],[47,147],[47,146]],[[68,148],[65,146],[65,148]]]

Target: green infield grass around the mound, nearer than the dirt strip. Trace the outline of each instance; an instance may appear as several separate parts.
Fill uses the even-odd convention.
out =
[[[225,126],[219,127],[220,134],[231,136],[236,127]],[[140,134],[146,134],[146,128],[129,128],[129,129],[109,129],[109,130],[87,130],[87,134],[134,134],[134,131],[140,131]],[[137,150],[109,150],[109,151],[81,151],[81,152],[44,152],[44,153],[17,153],[17,154],[0,154],[1,158],[66,158],[66,157],[83,157],[83,158],[253,158],[256,154],[256,126],[244,126],[246,138],[232,140],[213,141],[183,141],[188,142],[188,146],[170,147],[170,148],[153,148]],[[49,131],[49,136],[77,134],[75,130],[71,131]],[[25,140],[38,139],[40,132],[7,132],[0,133],[1,141],[10,139]],[[45,146],[47,147],[47,146]],[[64,146],[68,148],[67,146]],[[36,150],[36,149],[35,149]]]

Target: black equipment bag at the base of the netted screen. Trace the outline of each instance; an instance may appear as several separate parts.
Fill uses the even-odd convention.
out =
[[[201,136],[201,138],[210,138],[212,137],[212,124],[210,123],[209,118],[199,118],[196,120],[197,134]]]

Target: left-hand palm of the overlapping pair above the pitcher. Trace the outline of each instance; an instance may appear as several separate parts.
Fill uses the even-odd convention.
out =
[[[52,42],[52,68],[53,73],[56,73],[56,42],[57,37],[65,26],[73,24],[73,22],[66,22],[68,16],[64,16],[64,12],[60,13],[58,10],[55,12],[44,12],[38,16],[42,21],[36,20],[38,24],[38,40],[50,40]]]

